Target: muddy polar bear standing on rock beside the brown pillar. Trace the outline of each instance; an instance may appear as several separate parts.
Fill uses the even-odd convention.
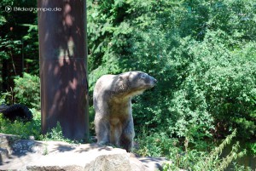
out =
[[[97,144],[115,145],[131,152],[135,136],[131,98],[156,83],[143,71],[104,75],[97,80],[93,93]]]

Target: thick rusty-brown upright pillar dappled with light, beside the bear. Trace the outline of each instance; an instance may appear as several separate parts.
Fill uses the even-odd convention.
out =
[[[89,137],[85,0],[38,0],[42,131]]]

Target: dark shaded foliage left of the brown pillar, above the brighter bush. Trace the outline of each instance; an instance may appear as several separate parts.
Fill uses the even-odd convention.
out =
[[[3,0],[0,3],[0,83],[3,90],[9,90],[14,77],[22,71],[39,73],[38,15],[31,11],[8,13],[6,6],[36,8],[37,1]],[[1,85],[0,91],[3,90]]]

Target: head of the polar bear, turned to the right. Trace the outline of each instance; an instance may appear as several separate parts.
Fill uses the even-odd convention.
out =
[[[157,83],[154,77],[143,71],[127,71],[118,75],[119,89],[128,98],[143,92],[148,88],[153,88]]]

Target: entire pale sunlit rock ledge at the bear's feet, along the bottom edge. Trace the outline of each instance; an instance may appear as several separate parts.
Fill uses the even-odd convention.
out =
[[[154,171],[162,163],[153,157],[135,157],[123,149],[96,144],[20,140],[6,134],[0,134],[0,140],[1,171]]]

